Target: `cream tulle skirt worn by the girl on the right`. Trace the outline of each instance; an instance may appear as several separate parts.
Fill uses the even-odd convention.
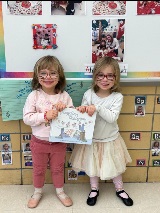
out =
[[[123,138],[110,142],[93,142],[91,145],[76,144],[69,162],[72,169],[85,171],[89,177],[98,176],[101,180],[110,180],[126,170],[126,164],[132,159]]]

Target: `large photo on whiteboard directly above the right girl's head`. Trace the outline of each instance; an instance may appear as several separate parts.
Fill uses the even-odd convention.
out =
[[[125,19],[92,20],[92,63],[109,56],[123,62]]]

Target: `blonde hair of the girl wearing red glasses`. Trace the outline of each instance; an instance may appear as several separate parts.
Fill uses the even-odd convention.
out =
[[[96,77],[99,72],[101,72],[105,67],[111,66],[113,69],[113,73],[116,76],[115,84],[111,88],[111,92],[120,92],[120,68],[118,62],[111,57],[102,57],[98,61],[96,61],[93,69],[93,81],[92,81],[92,89],[94,92],[99,90],[99,87],[96,84]]]

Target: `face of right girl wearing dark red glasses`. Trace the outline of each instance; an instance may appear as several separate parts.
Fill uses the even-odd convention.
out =
[[[108,91],[110,93],[111,87],[114,86],[116,80],[113,68],[109,65],[106,66],[96,75],[96,84],[99,87],[99,92]]]

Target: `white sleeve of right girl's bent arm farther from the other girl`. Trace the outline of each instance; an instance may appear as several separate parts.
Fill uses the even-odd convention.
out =
[[[96,105],[96,111],[108,123],[115,122],[120,114],[123,104],[123,96],[119,95],[115,101],[111,103],[110,107],[106,108],[105,105]]]

